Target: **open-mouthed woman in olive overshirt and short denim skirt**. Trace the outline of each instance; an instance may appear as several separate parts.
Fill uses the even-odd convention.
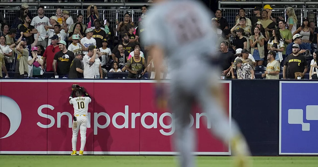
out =
[[[259,27],[255,27],[252,36],[249,38],[251,44],[251,53],[257,66],[263,65],[265,57],[264,36],[260,33]]]

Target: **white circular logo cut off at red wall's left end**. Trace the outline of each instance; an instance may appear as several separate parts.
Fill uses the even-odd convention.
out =
[[[21,124],[21,110],[18,104],[8,96],[0,96],[1,103],[0,103],[0,113],[6,115],[9,118],[10,122],[10,129],[8,133],[1,137],[0,139],[7,138],[13,135]]]

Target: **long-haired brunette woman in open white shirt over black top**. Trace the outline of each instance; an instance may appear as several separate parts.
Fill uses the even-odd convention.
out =
[[[284,52],[285,44],[284,39],[280,36],[280,31],[275,29],[273,30],[272,37],[267,43],[267,50],[276,52],[276,60],[280,63],[283,61],[282,52]]]

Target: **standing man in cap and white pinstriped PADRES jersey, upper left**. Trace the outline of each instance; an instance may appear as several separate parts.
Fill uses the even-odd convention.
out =
[[[31,21],[31,25],[34,26],[38,32],[40,32],[40,37],[38,39],[38,44],[37,45],[42,45],[44,47],[47,46],[47,38],[46,33],[47,31],[45,30],[44,26],[49,24],[49,18],[44,16],[44,7],[39,6],[38,7],[38,16],[34,17]],[[34,38],[36,38],[36,34],[34,34]]]

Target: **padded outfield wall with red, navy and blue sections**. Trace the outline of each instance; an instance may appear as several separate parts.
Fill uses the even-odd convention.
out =
[[[86,154],[176,154],[171,147],[173,115],[154,107],[152,80],[67,79],[1,80],[0,154],[69,154],[73,106],[68,97],[73,83],[92,96]],[[238,122],[253,155],[318,153],[318,82],[222,83],[229,106],[226,114]],[[196,129],[197,155],[231,154],[210,135],[204,113],[194,108],[190,119]]]

